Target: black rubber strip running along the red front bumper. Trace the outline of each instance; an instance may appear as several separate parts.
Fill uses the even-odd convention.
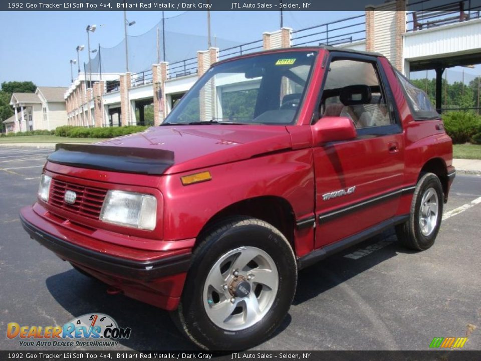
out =
[[[190,266],[190,253],[161,258],[155,261],[134,261],[95,252],[57,238],[35,227],[22,217],[22,215],[20,215],[20,221],[30,237],[57,254],[60,258],[100,272],[105,271],[106,273],[121,277],[125,276],[142,281],[149,281],[187,272]]]

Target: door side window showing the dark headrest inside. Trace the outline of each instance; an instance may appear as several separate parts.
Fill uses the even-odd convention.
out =
[[[375,65],[358,60],[332,61],[321,116],[348,117],[357,129],[393,124]]]

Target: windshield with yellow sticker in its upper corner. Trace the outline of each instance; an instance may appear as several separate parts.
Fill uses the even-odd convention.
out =
[[[163,124],[292,124],[315,55],[307,51],[282,52],[214,66]]]

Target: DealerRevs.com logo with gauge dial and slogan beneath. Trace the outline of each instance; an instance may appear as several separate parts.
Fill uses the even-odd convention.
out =
[[[119,327],[109,315],[87,313],[63,326],[21,326],[17,322],[7,325],[7,337],[20,338],[21,346],[117,346],[116,339],[130,337],[130,327]]]

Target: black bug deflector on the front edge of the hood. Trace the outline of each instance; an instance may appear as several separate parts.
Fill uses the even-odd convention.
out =
[[[57,144],[47,160],[90,169],[162,174],[174,164],[174,152],[110,145]]]

